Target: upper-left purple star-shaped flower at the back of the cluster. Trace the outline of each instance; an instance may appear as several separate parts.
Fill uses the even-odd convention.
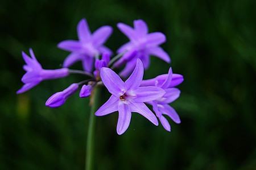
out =
[[[73,63],[76,63],[76,61],[81,60],[84,70],[91,72],[94,57],[99,56],[102,53],[112,53],[109,48],[103,45],[110,34],[112,34],[112,27],[110,26],[102,26],[91,34],[86,20],[80,20],[77,25],[77,35],[79,40],[65,40],[58,44],[59,48],[71,52],[65,59],[63,67],[69,67]]]

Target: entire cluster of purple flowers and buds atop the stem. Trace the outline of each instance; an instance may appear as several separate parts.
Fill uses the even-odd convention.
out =
[[[46,106],[60,107],[80,86],[79,96],[89,97],[95,86],[103,84],[111,96],[95,115],[103,116],[118,111],[119,135],[129,127],[131,113],[141,114],[156,126],[159,120],[167,131],[171,131],[170,123],[164,115],[175,123],[180,123],[179,115],[169,104],[180,96],[180,90],[175,86],[183,82],[183,76],[172,73],[170,68],[167,74],[143,80],[144,70],[150,66],[150,56],[170,63],[168,54],[159,47],[166,42],[166,36],[161,32],[148,33],[147,24],[143,20],[134,20],[134,28],[123,23],[118,23],[117,27],[130,42],[122,45],[117,50],[117,56],[112,59],[112,51],[104,45],[112,34],[112,27],[102,26],[92,34],[85,19],[77,25],[79,40],[64,40],[57,45],[60,49],[71,52],[64,60],[63,68],[43,69],[32,49],[30,56],[22,52],[26,74],[22,77],[24,85],[16,93],[24,93],[43,80],[63,78],[74,73],[84,74],[88,77],[86,80],[73,83],[63,91],[53,94],[46,101]],[[68,68],[77,61],[81,61],[83,71]],[[120,69],[122,65],[125,67]],[[115,68],[121,72],[115,73]],[[128,76],[125,81],[121,78]],[[152,111],[147,105],[152,106]]]

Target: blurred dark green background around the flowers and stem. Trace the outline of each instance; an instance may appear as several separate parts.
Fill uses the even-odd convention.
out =
[[[118,114],[97,117],[95,169],[256,169],[256,1],[7,1],[0,2],[0,169],[83,169],[89,99],[78,93],[59,109],[44,106],[52,93],[81,76],[42,82],[17,96],[32,47],[44,68],[60,68],[68,52],[56,44],[76,39],[76,24],[92,31],[108,24],[115,51],[127,39],[116,24],[144,19],[167,36],[162,47],[185,81],[172,103],[181,124],[172,132],[133,114],[127,132]],[[81,64],[74,68],[81,68]],[[167,73],[151,58],[145,78]],[[109,97],[102,95],[102,103]]]

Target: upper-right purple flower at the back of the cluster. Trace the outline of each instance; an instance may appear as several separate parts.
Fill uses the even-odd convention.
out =
[[[130,42],[122,45],[117,51],[125,54],[114,66],[119,67],[127,63],[121,76],[127,76],[133,71],[137,58],[142,60],[145,69],[150,65],[150,55],[170,63],[169,55],[159,47],[160,44],[166,42],[164,34],[161,32],[148,33],[147,24],[141,19],[134,20],[134,29],[123,23],[118,23],[117,27],[130,39]]]

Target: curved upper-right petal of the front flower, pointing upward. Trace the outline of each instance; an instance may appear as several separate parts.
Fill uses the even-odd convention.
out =
[[[136,66],[131,76],[125,81],[126,90],[136,89],[141,85],[143,79],[144,68],[142,61],[137,59]]]

